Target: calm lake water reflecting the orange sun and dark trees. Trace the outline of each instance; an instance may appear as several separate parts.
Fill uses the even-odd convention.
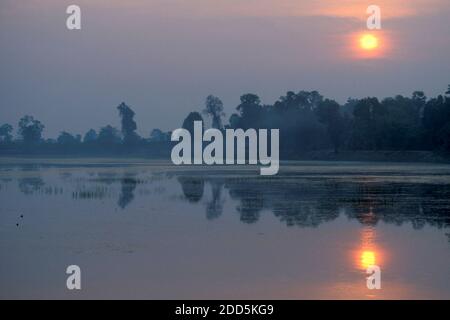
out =
[[[3,159],[0,298],[450,299],[449,165],[258,172]]]

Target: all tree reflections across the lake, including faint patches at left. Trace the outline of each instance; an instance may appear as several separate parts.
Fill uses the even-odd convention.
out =
[[[315,227],[336,219],[341,213],[367,226],[380,221],[400,225],[411,223],[414,228],[425,225],[450,227],[450,188],[448,184],[378,182],[307,177],[260,177],[176,174],[187,201],[199,203],[205,199],[207,219],[221,216],[225,192],[238,202],[236,211],[243,223],[255,223],[263,210],[271,211],[287,226]],[[73,199],[104,199],[118,197],[118,206],[125,209],[134,201],[137,186],[167,179],[136,179],[105,172],[88,180],[76,180]],[[94,182],[94,183],[93,183]],[[111,184],[114,183],[114,188]],[[120,193],[115,186],[120,183]],[[46,185],[39,176],[22,177],[19,190],[26,194],[62,194],[62,188]],[[205,188],[211,187],[211,197]],[[0,186],[1,188],[1,186]],[[141,190],[142,192],[142,190]],[[450,239],[449,239],[450,240]]]

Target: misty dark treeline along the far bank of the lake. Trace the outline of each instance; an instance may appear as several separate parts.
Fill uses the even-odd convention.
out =
[[[181,117],[180,126],[192,131],[194,121],[204,121],[219,130],[280,129],[282,159],[315,150],[450,151],[450,85],[437,97],[415,91],[410,97],[349,99],[343,105],[317,91],[289,91],[273,104],[249,93],[240,97],[235,113],[227,116],[223,110],[221,99],[210,95],[204,106],[184,121]],[[106,125],[83,134],[62,128],[56,139],[43,138],[45,124],[38,115],[24,115],[16,126],[0,122],[0,153],[169,157],[171,132],[148,128],[148,135],[140,136],[131,106],[121,103],[115,112],[120,128]]]

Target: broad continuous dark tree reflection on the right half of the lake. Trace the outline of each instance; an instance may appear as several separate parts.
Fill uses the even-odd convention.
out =
[[[178,181],[190,202],[200,201],[205,181],[212,185],[208,217],[222,212],[223,203],[218,206],[217,199],[222,188],[228,189],[231,198],[239,201],[236,210],[244,223],[257,222],[266,209],[287,226],[316,227],[336,219],[341,212],[368,226],[379,221],[398,225],[410,222],[414,228],[450,226],[448,185],[287,177],[205,176],[179,177]]]

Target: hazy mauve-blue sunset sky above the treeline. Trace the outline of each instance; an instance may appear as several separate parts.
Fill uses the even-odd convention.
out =
[[[66,8],[82,30],[66,29]],[[382,10],[383,54],[355,35]],[[450,83],[449,0],[0,0],[0,124],[24,114],[84,133],[118,126],[122,101],[139,133],[178,128],[214,94],[227,118],[239,96],[273,103],[288,90],[348,97],[428,95]]]

